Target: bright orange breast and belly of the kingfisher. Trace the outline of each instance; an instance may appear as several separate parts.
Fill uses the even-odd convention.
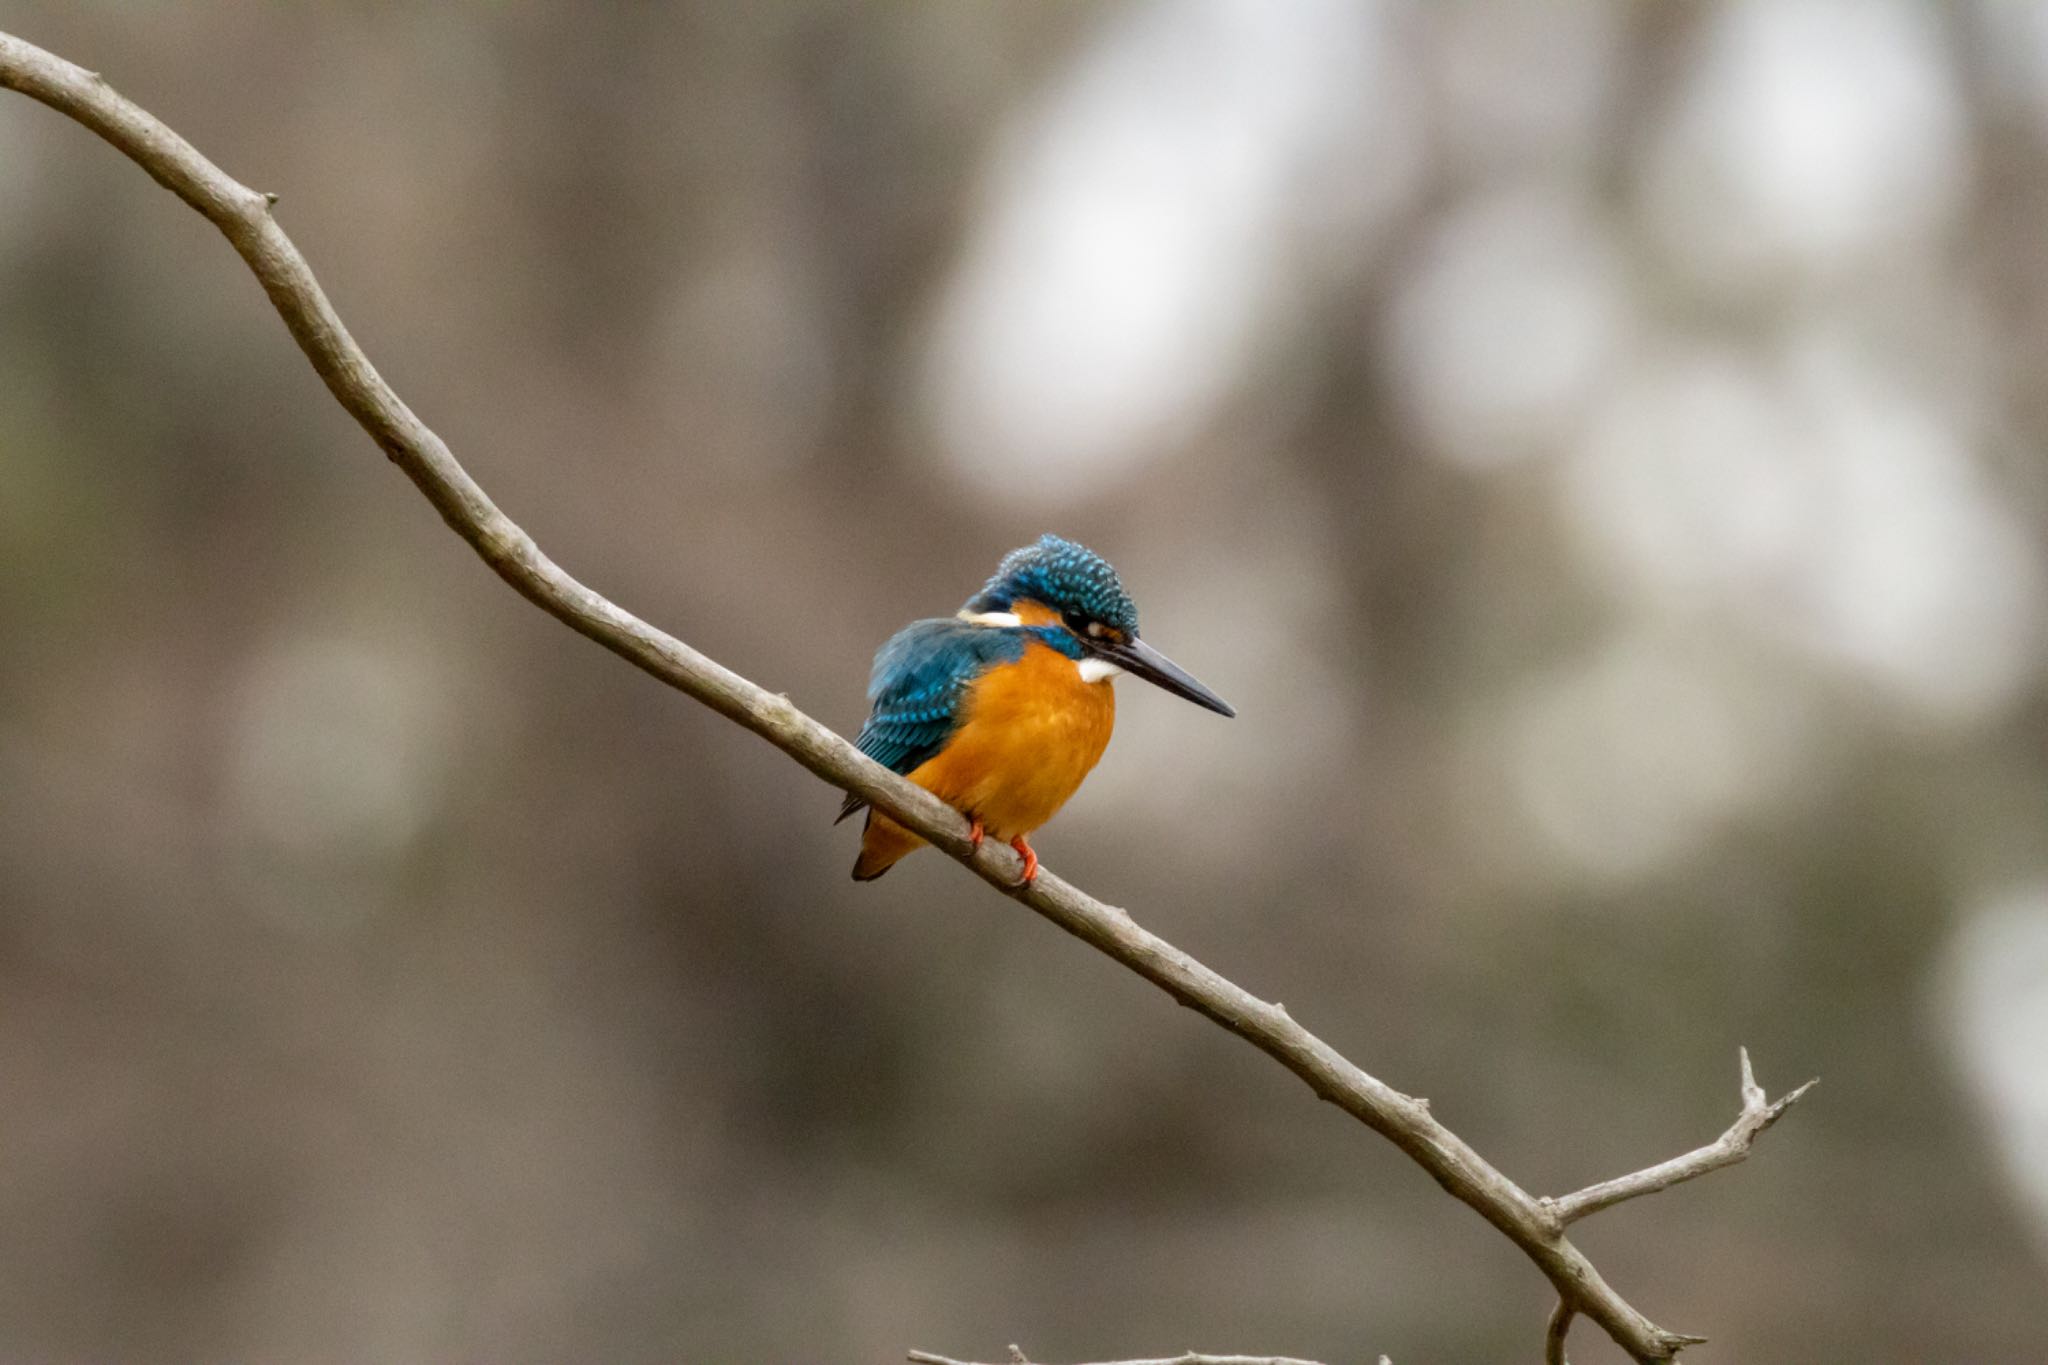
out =
[[[1014,839],[1067,804],[1114,724],[1108,679],[1081,681],[1073,659],[1034,641],[1018,663],[981,675],[952,741],[909,780]]]

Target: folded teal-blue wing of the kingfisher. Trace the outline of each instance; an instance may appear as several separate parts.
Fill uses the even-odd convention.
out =
[[[856,747],[870,759],[907,774],[934,757],[961,722],[967,692],[983,669],[1024,657],[1024,636],[999,626],[965,620],[918,620],[891,636],[874,655],[868,700],[874,704],[860,726]],[[840,819],[858,810],[848,796]]]

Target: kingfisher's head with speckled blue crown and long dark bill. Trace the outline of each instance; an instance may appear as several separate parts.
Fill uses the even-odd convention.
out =
[[[1102,555],[1085,544],[1038,536],[1036,544],[1004,555],[995,575],[967,600],[961,616],[989,626],[1034,626],[1057,632],[1083,677],[1135,673],[1196,706],[1235,716],[1231,704],[1184,667],[1139,639],[1139,608]]]

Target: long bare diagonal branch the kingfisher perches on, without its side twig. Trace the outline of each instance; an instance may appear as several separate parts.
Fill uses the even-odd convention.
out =
[[[1561,1300],[1593,1318],[1636,1361],[1671,1359],[1694,1340],[1665,1332],[1622,1300],[1565,1238],[1567,1220],[1556,1207],[1528,1195],[1487,1164],[1462,1138],[1438,1124],[1423,1101],[1366,1074],[1294,1023],[1286,1009],[1245,993],[1147,933],[1124,911],[1053,874],[1040,874],[1030,886],[1016,886],[1014,853],[995,841],[973,847],[967,821],[936,796],[874,763],[797,710],[788,698],[649,626],[555,565],[498,510],[449,446],[399,401],[348,336],[311,266],[270,215],[274,196],[229,178],[170,127],[117,94],[96,72],[6,33],[0,33],[0,86],[86,125],[205,215],[256,274],[334,399],[418,485],[455,534],[528,602],[754,731],[825,782],[862,796],[1012,898],[1266,1052],[1321,1099],[1407,1152],[1438,1185],[1501,1230],[1550,1279]]]

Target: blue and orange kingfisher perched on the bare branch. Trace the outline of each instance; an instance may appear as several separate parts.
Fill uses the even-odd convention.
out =
[[[1102,555],[1040,536],[1010,551],[954,616],[915,620],[874,655],[860,751],[1004,839],[1038,876],[1028,835],[1102,757],[1116,724],[1110,679],[1133,673],[1235,716],[1231,704],[1139,639],[1139,608]],[[866,802],[848,796],[840,821]],[[836,821],[838,823],[838,821]],[[872,882],[924,839],[868,810],[854,880]]]

